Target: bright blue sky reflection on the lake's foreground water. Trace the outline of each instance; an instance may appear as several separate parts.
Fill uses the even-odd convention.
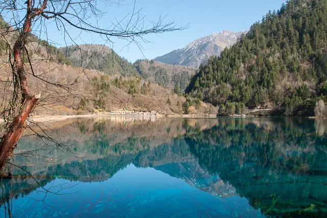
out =
[[[261,216],[246,198],[220,198],[203,192],[168,174],[153,168],[133,165],[101,182],[70,182],[55,179],[44,188],[54,192],[61,185],[67,189],[57,196],[38,193],[37,188],[24,198],[13,201],[14,216],[119,216],[119,217],[201,217],[201,216]],[[74,187],[72,187],[74,186]],[[43,202],[44,198],[44,202]]]

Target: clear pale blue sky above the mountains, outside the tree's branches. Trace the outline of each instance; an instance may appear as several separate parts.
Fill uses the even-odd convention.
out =
[[[135,10],[141,9],[140,14],[145,16],[145,20],[156,21],[161,15],[165,16],[166,22],[175,21],[177,25],[190,23],[189,28],[183,31],[146,36],[149,42],[142,43],[143,49],[139,49],[136,44],[126,46],[126,41],[114,38],[110,38],[113,44],[108,44],[94,34],[80,35],[80,31],[73,28],[69,33],[79,36],[75,38],[77,44],[107,44],[130,62],[137,59],[151,60],[215,32],[249,30],[251,24],[261,20],[269,10],[278,10],[283,3],[285,0],[136,0]],[[120,20],[131,13],[134,0],[123,0],[120,5],[100,4],[99,7],[106,12],[99,20],[99,25],[106,27],[109,21]],[[54,26],[48,32],[50,40],[57,42],[57,46],[65,44],[62,34]],[[66,43],[72,42],[67,40]]]

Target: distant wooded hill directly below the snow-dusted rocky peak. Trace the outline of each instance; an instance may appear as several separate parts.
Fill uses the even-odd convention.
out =
[[[196,73],[195,68],[165,64],[153,60],[137,60],[134,67],[144,79],[174,89],[178,93],[189,86],[191,77]]]

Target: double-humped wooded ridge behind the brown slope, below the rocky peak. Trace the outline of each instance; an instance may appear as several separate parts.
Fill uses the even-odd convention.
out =
[[[150,83],[162,87],[185,90],[196,69],[170,65],[156,61],[137,60],[131,64],[105,45],[83,44],[61,48],[67,60],[74,67],[95,69],[108,75],[141,76]]]

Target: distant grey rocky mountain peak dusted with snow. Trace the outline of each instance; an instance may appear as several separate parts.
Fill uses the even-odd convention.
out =
[[[173,50],[167,55],[157,57],[154,60],[167,64],[197,68],[201,63],[207,61],[210,56],[219,56],[226,47],[229,48],[235,44],[238,38],[245,33],[246,31],[240,33],[230,31],[213,33],[191,42],[184,48]]]

